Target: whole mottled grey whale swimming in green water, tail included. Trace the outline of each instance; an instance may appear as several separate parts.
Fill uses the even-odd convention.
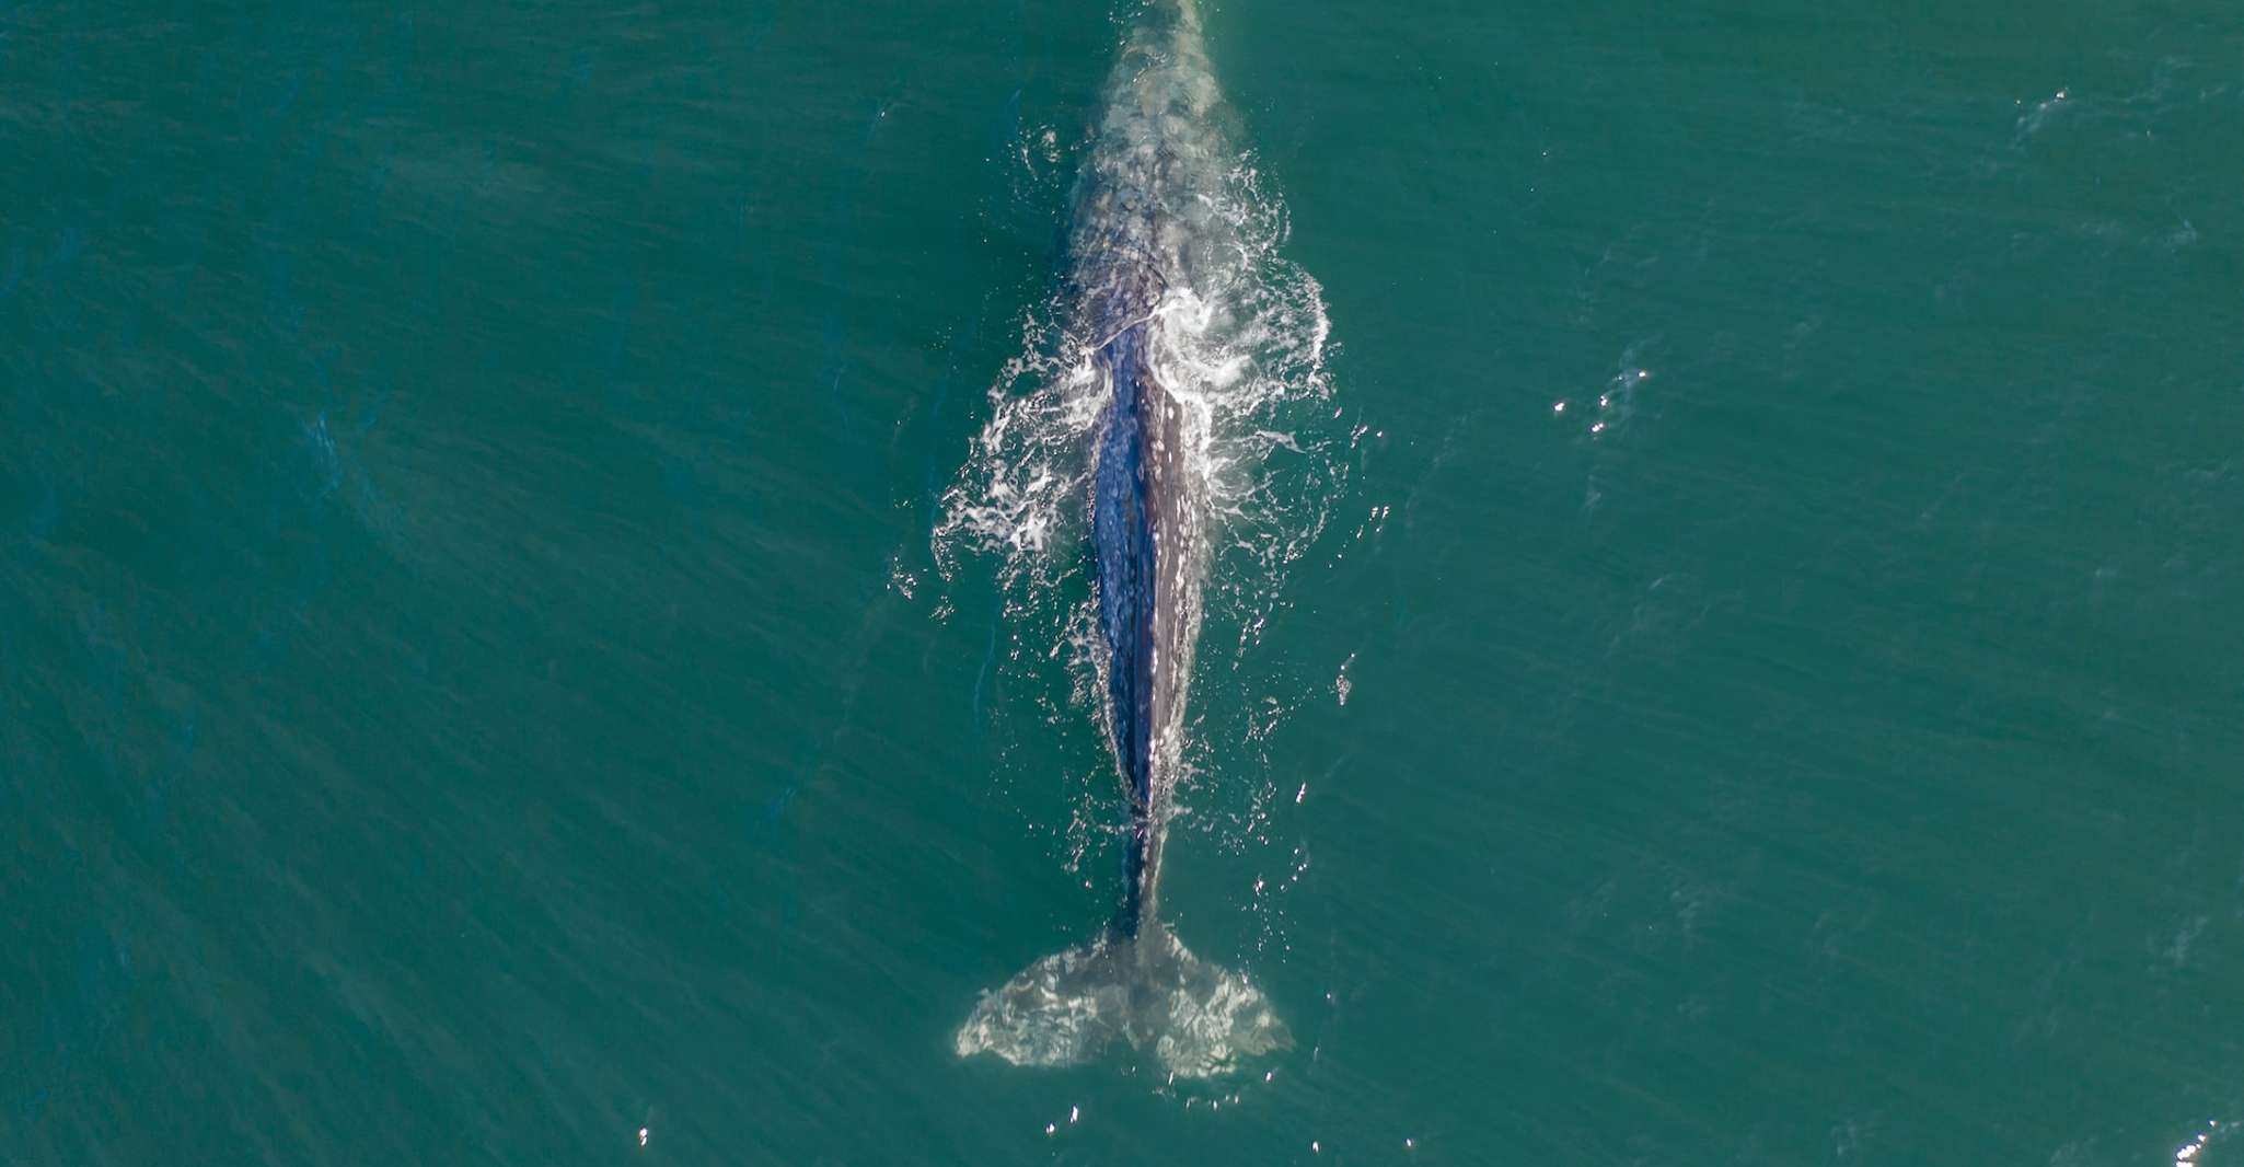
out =
[[[1223,157],[1201,13],[1194,0],[1158,0],[1113,65],[1068,240],[1068,330],[1104,395],[1088,552],[1104,723],[1129,815],[1120,902],[1088,943],[985,992],[956,1035],[960,1057],[1068,1066],[1129,1046],[1176,1079],[1293,1046],[1268,996],[1185,949],[1158,911],[1210,518],[1196,458],[1207,422],[1165,373],[1165,303],[1192,283],[1205,184]]]

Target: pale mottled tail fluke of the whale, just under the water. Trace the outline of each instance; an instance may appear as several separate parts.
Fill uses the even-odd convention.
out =
[[[1185,952],[1167,927],[1109,931],[1028,965],[985,992],[958,1028],[958,1055],[1014,1066],[1075,1066],[1115,1041],[1151,1050],[1176,1077],[1290,1050],[1293,1035],[1245,976]]]

